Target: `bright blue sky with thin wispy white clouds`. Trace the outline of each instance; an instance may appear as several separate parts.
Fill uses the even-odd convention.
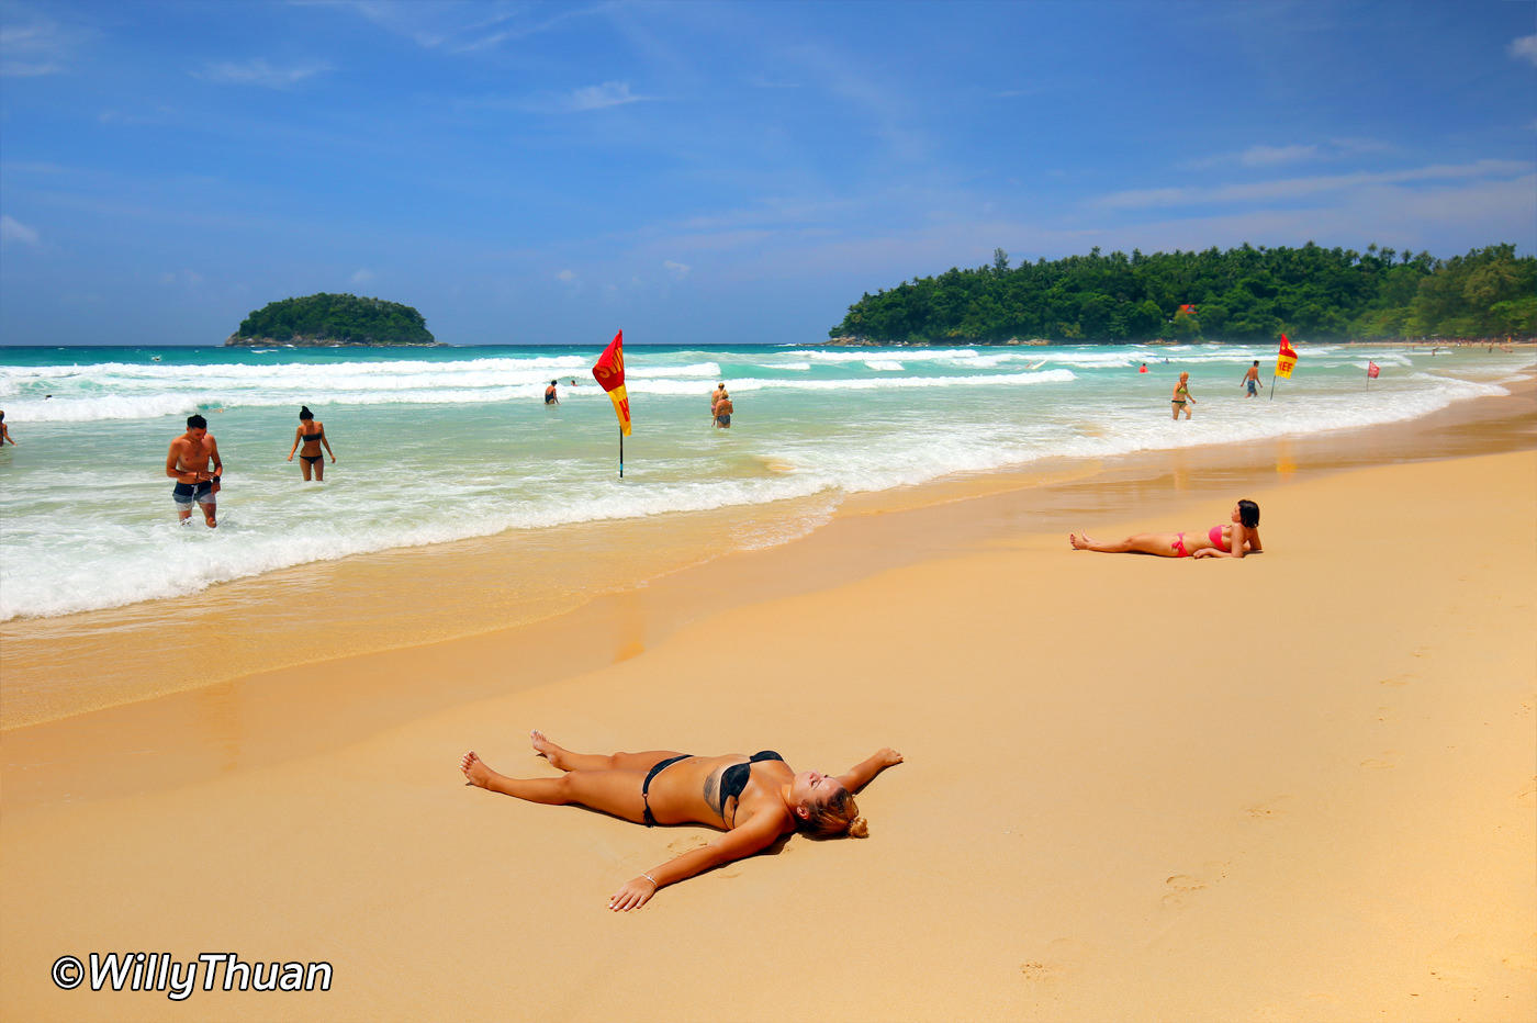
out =
[[[0,344],[805,344],[994,247],[1310,240],[1537,250],[1537,3],[0,5]]]

